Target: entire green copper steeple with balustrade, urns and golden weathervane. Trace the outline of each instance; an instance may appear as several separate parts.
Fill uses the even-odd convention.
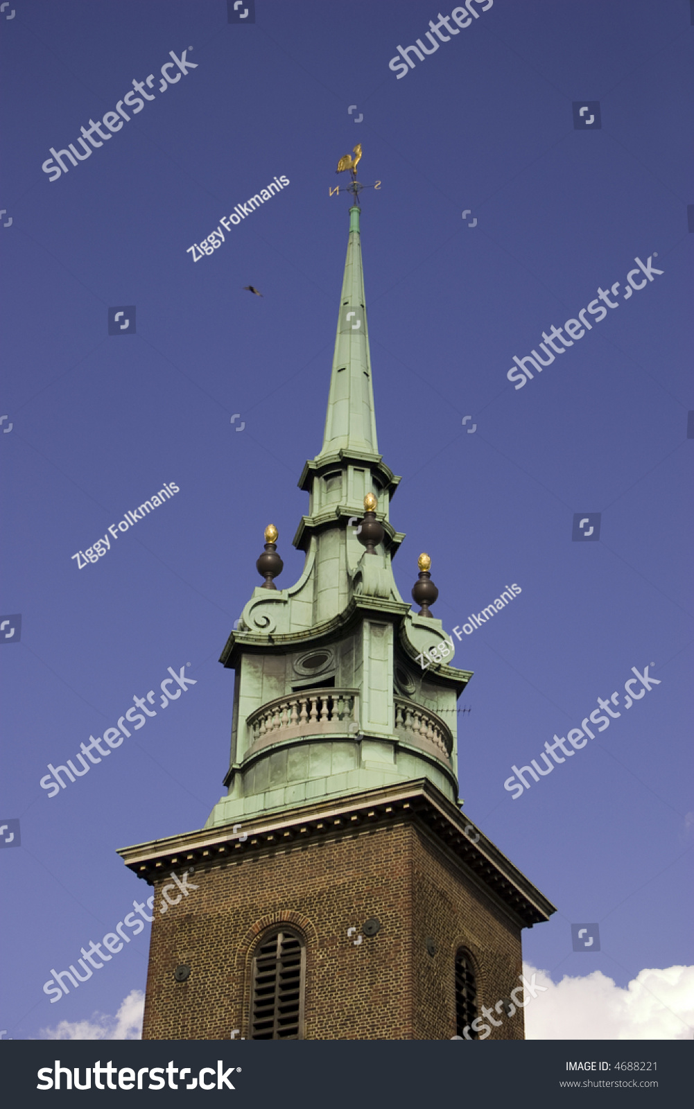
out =
[[[351,171],[357,192],[354,163],[346,155],[338,172]],[[422,779],[458,796],[456,701],[471,674],[453,668],[456,637],[428,611],[428,556],[421,613],[392,576],[405,539],[390,522],[400,479],[376,440],[359,215],[354,204],[323,447],[299,478],[308,510],[293,542],[304,568],[275,584],[282,558],[268,528],[256,562],[265,583],[222,653],[235,671],[228,793],[208,827]],[[442,641],[446,653],[425,665]]]

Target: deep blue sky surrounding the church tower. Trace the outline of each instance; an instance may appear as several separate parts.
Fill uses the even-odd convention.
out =
[[[0,609],[22,615],[0,660],[0,815],[21,821],[0,856],[9,1036],[144,988],[146,932],[59,1004],[42,993],[149,896],[115,848],[202,826],[223,793],[233,676],[217,659],[271,520],[280,584],[300,573],[296,480],[320,448],[347,242],[328,190],[356,142],[360,179],[382,181],[361,228],[379,449],[402,475],[400,591],[422,550],[448,631],[522,590],[459,644],[474,671],[465,812],[558,906],[523,934],[555,980],[599,968],[623,986],[693,962],[690,4],[496,0],[398,79],[398,44],[437,11],[257,0],[239,26],[223,0],[17,0],[0,18]],[[160,92],[184,50],[196,68]],[[50,147],[150,73],[154,100],[50,181]],[[574,128],[582,99],[600,130]],[[635,257],[663,272],[623,298]],[[514,389],[513,355],[616,282],[619,308]],[[110,336],[109,308],[130,305],[135,334]],[[180,491],[79,570],[71,557],[163,482]],[[601,513],[599,541],[572,541],[575,512]],[[513,801],[511,765],[599,696],[622,705],[646,665],[660,684]],[[49,798],[47,764],[74,760],[169,667],[196,684]],[[600,953],[572,952],[584,922]]]

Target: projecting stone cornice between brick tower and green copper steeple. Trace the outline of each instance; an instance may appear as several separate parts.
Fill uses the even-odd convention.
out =
[[[284,849],[293,843],[315,842],[328,835],[339,838],[355,828],[384,827],[404,820],[414,821],[455,858],[517,926],[532,927],[555,912],[551,902],[427,779],[295,806],[243,824],[121,847],[118,854],[137,877],[152,885],[176,867],[245,858]],[[243,843],[241,835],[246,837]]]

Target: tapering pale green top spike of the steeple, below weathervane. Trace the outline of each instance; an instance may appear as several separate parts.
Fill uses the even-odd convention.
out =
[[[323,447],[316,461],[323,455],[331,455],[340,449],[378,454],[361,266],[360,211],[356,205],[349,208],[349,242],[337,319],[328,410]]]

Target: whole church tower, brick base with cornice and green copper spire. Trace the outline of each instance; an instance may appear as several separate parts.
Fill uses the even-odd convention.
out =
[[[472,674],[430,612],[429,557],[419,611],[392,576],[357,185],[304,571],[275,584],[271,525],[220,660],[226,794],[204,828],[119,852],[154,893],[143,1039],[523,1038],[521,929],[554,908],[460,812]]]

